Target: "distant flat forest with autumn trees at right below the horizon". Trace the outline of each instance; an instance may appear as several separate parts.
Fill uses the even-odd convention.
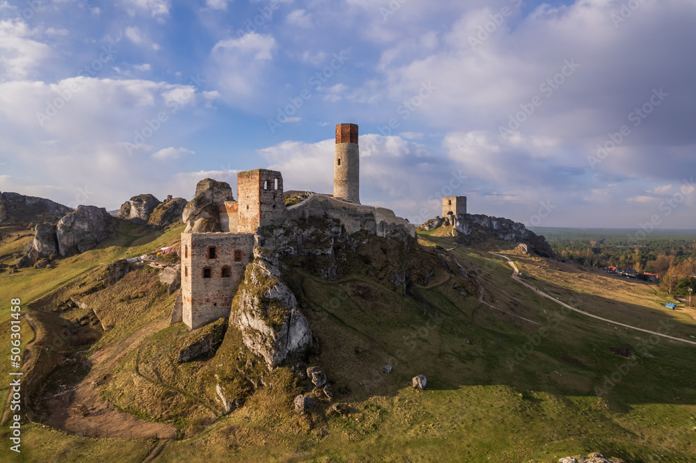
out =
[[[696,290],[696,230],[569,229],[532,227],[554,252],[583,266],[658,273],[667,293],[687,298]]]

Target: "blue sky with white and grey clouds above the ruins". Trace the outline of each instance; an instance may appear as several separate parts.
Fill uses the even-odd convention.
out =
[[[0,190],[107,209],[274,168],[528,225],[696,228],[693,0],[0,0]]]

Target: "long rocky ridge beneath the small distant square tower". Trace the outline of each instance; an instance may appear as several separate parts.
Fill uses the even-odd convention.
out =
[[[431,232],[443,227],[452,228],[452,236],[463,244],[498,238],[503,241],[524,243],[528,250],[541,257],[554,257],[551,246],[544,236],[539,236],[523,224],[506,218],[459,214],[457,216],[436,217],[428,220],[420,229]]]

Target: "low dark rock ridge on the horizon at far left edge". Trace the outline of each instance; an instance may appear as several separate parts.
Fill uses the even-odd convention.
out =
[[[0,192],[0,224],[6,223],[56,223],[72,209],[42,197],[19,193]]]

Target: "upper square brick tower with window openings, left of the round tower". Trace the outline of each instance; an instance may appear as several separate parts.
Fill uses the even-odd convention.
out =
[[[282,220],[283,175],[276,170],[246,170],[237,174],[237,232],[253,233],[257,227]]]

